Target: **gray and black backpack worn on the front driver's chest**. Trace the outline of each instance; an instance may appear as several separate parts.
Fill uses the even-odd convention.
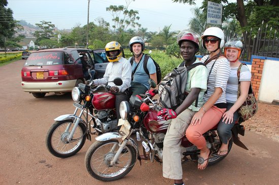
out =
[[[182,65],[183,64],[183,65]],[[184,66],[182,63],[180,66]],[[173,109],[178,108],[185,100],[186,95],[184,93],[188,71],[198,65],[204,65],[203,63],[195,63],[187,67],[178,67],[168,73],[159,83],[159,102],[163,108]],[[196,99],[196,107],[197,107]]]

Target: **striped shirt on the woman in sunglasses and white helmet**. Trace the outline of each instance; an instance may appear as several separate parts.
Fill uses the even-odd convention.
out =
[[[200,61],[204,63],[207,58],[208,55],[202,57]],[[211,74],[209,75],[210,69],[214,62],[215,64],[212,68]],[[207,102],[207,100],[213,95],[215,88],[220,87],[222,88],[223,92],[221,97],[215,102],[215,104],[226,103],[226,86],[231,72],[229,61],[226,58],[219,58],[217,60],[215,59],[208,63],[206,67],[208,71],[208,82],[207,92],[203,95],[204,101]]]

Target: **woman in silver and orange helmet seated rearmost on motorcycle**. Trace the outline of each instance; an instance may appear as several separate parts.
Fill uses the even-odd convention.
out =
[[[231,73],[226,88],[227,111],[223,114],[223,118],[218,124],[218,135],[222,142],[217,153],[219,156],[228,154],[228,141],[232,135],[231,128],[238,121],[239,115],[237,110],[246,100],[250,87],[252,75],[246,65],[241,66],[239,80],[237,77],[237,70],[241,64],[238,59],[241,57],[242,51],[243,44],[241,40],[237,38],[231,38],[225,44],[225,56],[230,62]],[[240,96],[237,98],[239,82]]]

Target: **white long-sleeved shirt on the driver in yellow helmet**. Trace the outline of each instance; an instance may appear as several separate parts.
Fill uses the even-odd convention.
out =
[[[104,72],[103,78],[95,79],[94,85],[106,84],[113,81],[116,77],[122,79],[123,84],[117,86],[120,92],[123,92],[131,86],[132,67],[127,59],[121,58],[117,62],[110,62]],[[115,86],[113,82],[109,82],[110,86]]]

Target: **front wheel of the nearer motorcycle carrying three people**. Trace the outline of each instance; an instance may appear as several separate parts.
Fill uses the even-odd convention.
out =
[[[113,181],[125,176],[136,162],[136,151],[126,145],[114,166],[111,161],[119,149],[117,140],[94,142],[85,155],[85,166],[88,173],[102,181]]]

